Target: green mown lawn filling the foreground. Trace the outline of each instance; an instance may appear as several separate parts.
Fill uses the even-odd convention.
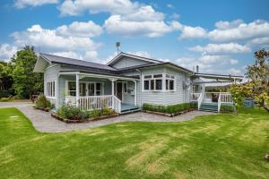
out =
[[[0,109],[0,178],[269,178],[269,115],[204,115],[40,133]]]

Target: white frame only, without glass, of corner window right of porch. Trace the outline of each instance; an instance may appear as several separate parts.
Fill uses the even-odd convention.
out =
[[[154,75],[158,75],[158,74],[162,74],[161,77],[155,77]],[[151,76],[150,78],[145,78]],[[161,80],[161,90],[156,90],[156,80]],[[173,90],[167,90],[166,89],[166,81],[174,81],[174,89]],[[144,89],[144,81],[149,81],[149,90],[145,90]],[[153,82],[153,90],[152,90],[152,82]],[[143,91],[162,91],[162,92],[166,92],[166,91],[176,91],[176,75],[174,74],[169,74],[167,72],[160,72],[160,73],[152,73],[152,74],[144,74],[142,76],[142,84],[143,84]]]

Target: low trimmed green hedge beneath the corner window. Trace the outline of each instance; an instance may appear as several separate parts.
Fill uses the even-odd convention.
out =
[[[143,110],[155,111],[167,114],[174,114],[182,111],[187,111],[191,108],[195,108],[195,105],[190,103],[182,103],[178,105],[169,105],[169,106],[153,105],[148,103],[143,104]]]

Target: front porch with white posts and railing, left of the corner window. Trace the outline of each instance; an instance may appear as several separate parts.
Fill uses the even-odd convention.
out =
[[[140,109],[136,105],[137,78],[85,72],[60,72],[59,98],[62,104],[71,104],[83,111],[109,107],[119,114]],[[62,85],[61,85],[62,84]],[[65,85],[63,85],[65,84]]]

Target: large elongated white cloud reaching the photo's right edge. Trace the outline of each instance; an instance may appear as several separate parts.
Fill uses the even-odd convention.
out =
[[[218,21],[215,25],[217,29],[208,33],[208,37],[213,41],[238,41],[269,36],[267,21],[256,20],[250,23],[244,23],[241,20]]]

